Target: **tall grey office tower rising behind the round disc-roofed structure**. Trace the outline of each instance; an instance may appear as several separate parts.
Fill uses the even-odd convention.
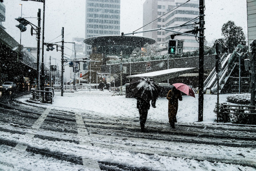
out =
[[[86,0],[86,38],[100,35],[120,35],[120,0]]]

